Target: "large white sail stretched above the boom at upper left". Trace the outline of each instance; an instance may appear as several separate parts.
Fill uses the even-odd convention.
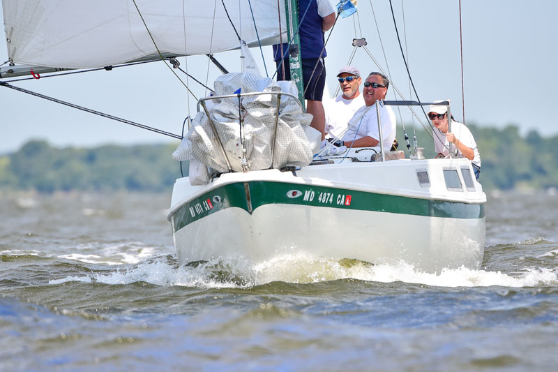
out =
[[[236,49],[240,43],[235,29],[249,46],[258,45],[257,34],[262,45],[278,43],[276,0],[223,2],[135,0],[160,52],[193,55]],[[8,57],[14,63],[91,68],[157,52],[133,0],[2,0],[2,5]]]

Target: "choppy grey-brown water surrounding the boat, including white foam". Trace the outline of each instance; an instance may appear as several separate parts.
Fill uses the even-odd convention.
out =
[[[492,193],[480,270],[179,267],[169,195],[0,194],[0,370],[555,371],[558,196]]]

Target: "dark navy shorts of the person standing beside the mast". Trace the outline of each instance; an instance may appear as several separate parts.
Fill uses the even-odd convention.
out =
[[[285,62],[285,76],[287,78],[283,78],[283,69],[280,66],[281,61],[276,61],[278,68],[277,80],[291,80],[289,59],[285,58],[283,61]],[[314,68],[316,68],[315,71]],[[312,75],[312,71],[314,71],[314,75]],[[302,81],[306,90],[304,98],[308,101],[322,101],[324,87],[326,86],[326,64],[323,58],[302,59]]]

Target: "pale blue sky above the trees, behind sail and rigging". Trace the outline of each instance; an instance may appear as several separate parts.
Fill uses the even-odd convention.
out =
[[[462,1],[463,69],[459,0],[392,0],[392,3],[409,71],[421,101],[451,99],[451,110],[459,121],[463,120],[465,106],[465,124],[497,128],[514,124],[522,135],[531,130],[541,135],[558,134],[556,115],[552,112],[558,87],[555,73],[558,1]],[[349,62],[352,39],[364,36],[368,51],[382,69],[389,68],[393,84],[405,99],[409,99],[409,78],[389,0],[373,1],[373,13],[370,0],[359,1],[358,8],[358,17],[338,20],[327,44],[327,94],[335,94],[338,87],[335,75]],[[0,17],[3,19],[3,13]],[[274,70],[271,48],[264,47],[263,53],[267,69]],[[259,49],[252,49],[252,54],[265,75]],[[238,55],[238,52],[226,52],[216,57],[229,71],[238,72]],[[3,42],[0,43],[0,64],[7,59]],[[179,61],[181,68],[211,87],[219,75],[217,68],[204,56]],[[352,65],[362,74],[379,70],[363,48],[356,50]],[[195,99],[188,97],[182,83],[162,61],[14,84],[178,135],[185,117],[195,116],[197,111]],[[197,98],[207,94],[191,80],[188,86]],[[393,88],[390,88],[387,99],[394,98]],[[397,116],[398,122],[403,121],[407,131],[412,131],[409,111],[402,109]],[[416,121],[414,125],[420,127]],[[178,144],[171,137],[0,87],[0,154],[17,151],[29,140],[47,140],[58,147],[93,147],[107,143]]]

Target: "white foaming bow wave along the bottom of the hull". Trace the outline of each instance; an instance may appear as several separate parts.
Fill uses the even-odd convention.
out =
[[[82,281],[127,285],[148,283],[160,286],[195,288],[252,288],[271,282],[322,283],[354,279],[378,283],[405,282],[435,287],[489,287],[492,285],[522,288],[558,285],[557,269],[523,268],[513,273],[472,270],[465,267],[443,269],[438,274],[426,273],[412,265],[372,265],[357,260],[331,260],[312,257],[308,253],[280,255],[273,260],[252,264],[243,258],[219,258],[204,262],[190,262],[178,266],[174,258],[152,258],[140,264],[119,267],[112,271],[85,276],[68,276],[49,281],[50,284]]]

